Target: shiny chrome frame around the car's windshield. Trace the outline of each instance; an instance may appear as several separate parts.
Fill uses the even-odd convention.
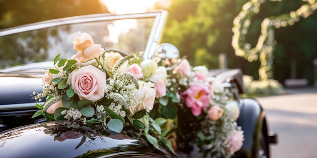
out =
[[[107,20],[120,20],[120,19],[132,19],[132,18],[148,18],[155,17],[154,24],[148,38],[145,50],[144,50],[144,59],[150,58],[154,54],[155,47],[157,43],[160,42],[163,26],[165,24],[165,19],[167,17],[167,11],[159,10],[152,11],[147,13],[136,13],[136,14],[93,14],[93,15],[83,15],[75,16],[61,19],[47,20],[43,22],[37,22],[27,25],[22,25],[18,27],[13,27],[9,29],[0,30],[0,36],[5,36],[14,33],[20,33],[24,31],[48,28],[59,25],[67,24],[76,24],[76,23],[87,23],[87,22],[96,22],[96,21],[107,21]]]

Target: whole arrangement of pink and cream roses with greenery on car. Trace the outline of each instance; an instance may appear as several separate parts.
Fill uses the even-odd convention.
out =
[[[176,148],[171,133],[186,135],[204,151],[230,157],[243,143],[243,131],[235,123],[238,102],[230,89],[208,76],[205,66],[191,67],[186,59],[175,65],[136,55],[123,57],[94,44],[83,33],[73,41],[77,54],[54,59],[45,71],[43,92],[33,92],[47,121],[73,120],[120,133],[139,130],[155,148],[163,143]],[[167,66],[170,66],[167,69]],[[189,125],[189,127],[188,127]],[[175,134],[174,134],[175,135]],[[178,140],[177,140],[178,141]]]

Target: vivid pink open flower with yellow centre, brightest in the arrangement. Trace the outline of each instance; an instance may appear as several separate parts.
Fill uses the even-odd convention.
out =
[[[191,108],[194,116],[199,116],[202,110],[208,107],[210,101],[210,90],[201,84],[190,85],[181,95],[186,95],[186,106]]]

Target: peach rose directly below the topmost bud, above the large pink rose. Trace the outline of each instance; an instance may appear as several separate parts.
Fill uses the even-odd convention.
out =
[[[100,44],[93,44],[85,49],[81,49],[77,52],[75,59],[79,63],[85,63],[101,56],[105,50]]]

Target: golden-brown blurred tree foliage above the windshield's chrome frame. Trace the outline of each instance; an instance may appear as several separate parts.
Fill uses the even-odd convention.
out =
[[[108,12],[98,0],[0,0],[0,29],[56,18]]]

